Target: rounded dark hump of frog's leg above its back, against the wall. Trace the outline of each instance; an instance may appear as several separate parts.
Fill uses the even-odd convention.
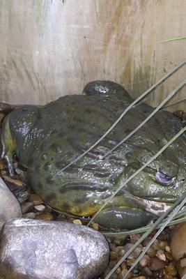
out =
[[[125,98],[130,98],[123,86],[116,82],[111,82],[110,80],[95,80],[93,82],[89,82],[86,86],[84,86],[83,94],[88,96],[121,95],[125,96]]]

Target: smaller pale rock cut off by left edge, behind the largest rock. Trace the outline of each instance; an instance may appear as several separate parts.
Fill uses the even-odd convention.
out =
[[[6,183],[0,177],[0,230],[7,220],[22,217],[22,209],[15,195],[8,189]]]

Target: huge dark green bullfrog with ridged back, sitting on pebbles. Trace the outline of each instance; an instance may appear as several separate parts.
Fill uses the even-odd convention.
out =
[[[159,111],[137,133],[102,159],[153,111],[140,103],[83,158],[63,169],[94,144],[132,98],[123,86],[95,81],[82,95],[63,96],[44,106],[22,105],[2,124],[3,157],[13,175],[13,154],[27,168],[35,193],[52,208],[93,216],[127,177],[144,165],[183,124]],[[133,229],[160,215],[186,190],[186,135],[134,177],[98,215],[109,229]]]

